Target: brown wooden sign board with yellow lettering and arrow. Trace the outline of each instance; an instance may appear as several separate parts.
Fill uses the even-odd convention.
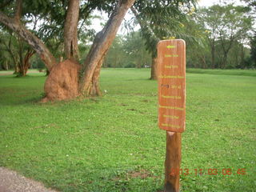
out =
[[[158,42],[158,126],[182,133],[186,118],[186,44]]]

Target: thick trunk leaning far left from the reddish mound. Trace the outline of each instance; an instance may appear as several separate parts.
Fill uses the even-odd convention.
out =
[[[37,38],[34,34],[27,30],[25,26],[22,26],[15,18],[9,18],[0,11],[0,22],[10,30],[15,31],[21,38],[23,38],[33,49],[38,53],[43,62],[45,62],[48,70],[56,64],[54,56],[50,53],[50,50],[43,44],[43,42]]]

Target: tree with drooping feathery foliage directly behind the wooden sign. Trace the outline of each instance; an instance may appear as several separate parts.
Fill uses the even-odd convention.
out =
[[[131,8],[141,27],[142,37],[146,40],[146,49],[152,57],[151,77],[157,79],[157,50],[159,40],[177,37],[187,38],[182,33],[182,22],[186,13],[196,1],[138,1]]]

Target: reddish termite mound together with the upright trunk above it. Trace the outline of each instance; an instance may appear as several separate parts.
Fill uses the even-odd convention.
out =
[[[70,0],[64,26],[64,52],[66,61],[53,67],[46,79],[42,102],[66,100],[78,96],[78,18],[79,0]]]

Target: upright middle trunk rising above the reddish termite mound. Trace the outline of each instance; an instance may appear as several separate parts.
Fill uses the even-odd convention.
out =
[[[79,0],[70,0],[64,26],[64,50],[66,58],[78,61]]]

